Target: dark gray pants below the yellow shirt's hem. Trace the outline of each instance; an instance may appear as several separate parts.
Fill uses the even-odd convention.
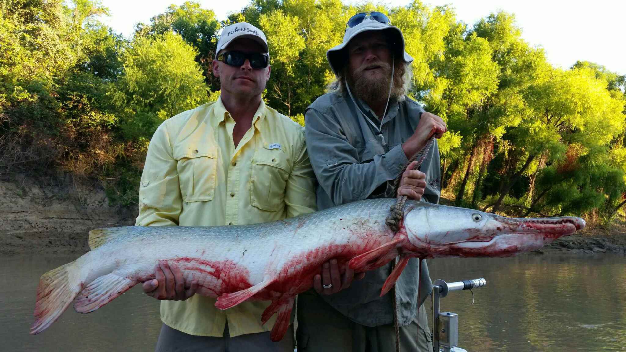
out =
[[[294,326],[290,325],[285,337],[272,342],[270,332],[245,334],[231,338],[228,325],[221,338],[185,334],[163,324],[155,352],[294,352]]]

